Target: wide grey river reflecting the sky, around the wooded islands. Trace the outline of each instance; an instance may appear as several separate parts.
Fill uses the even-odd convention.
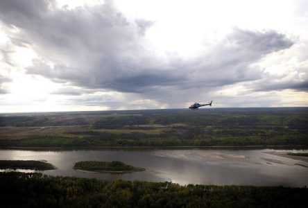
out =
[[[103,149],[0,150],[0,159],[42,160],[57,167],[36,171],[47,175],[96,177],[103,180],[171,181],[178,184],[236,184],[287,187],[308,185],[308,162],[271,153],[308,150]],[[75,162],[119,160],[146,168],[144,172],[110,174],[75,171]],[[8,170],[6,170],[8,171]],[[24,170],[26,171],[26,170]]]

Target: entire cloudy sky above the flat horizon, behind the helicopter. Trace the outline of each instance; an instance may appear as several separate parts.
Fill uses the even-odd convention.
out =
[[[308,1],[0,1],[0,112],[308,106]]]

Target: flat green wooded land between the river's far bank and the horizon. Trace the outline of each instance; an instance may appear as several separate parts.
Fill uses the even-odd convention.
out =
[[[0,114],[0,148],[308,146],[308,107]]]

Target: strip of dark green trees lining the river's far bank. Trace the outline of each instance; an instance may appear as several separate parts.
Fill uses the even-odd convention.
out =
[[[131,135],[133,137],[133,134]],[[1,148],[78,148],[78,147],[142,147],[142,146],[308,146],[306,135],[262,137],[209,137],[205,139],[106,139],[102,137],[37,136],[26,139],[1,139]]]

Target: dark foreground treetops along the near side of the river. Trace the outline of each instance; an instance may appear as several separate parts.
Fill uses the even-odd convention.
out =
[[[307,207],[308,189],[0,173],[1,207]]]

